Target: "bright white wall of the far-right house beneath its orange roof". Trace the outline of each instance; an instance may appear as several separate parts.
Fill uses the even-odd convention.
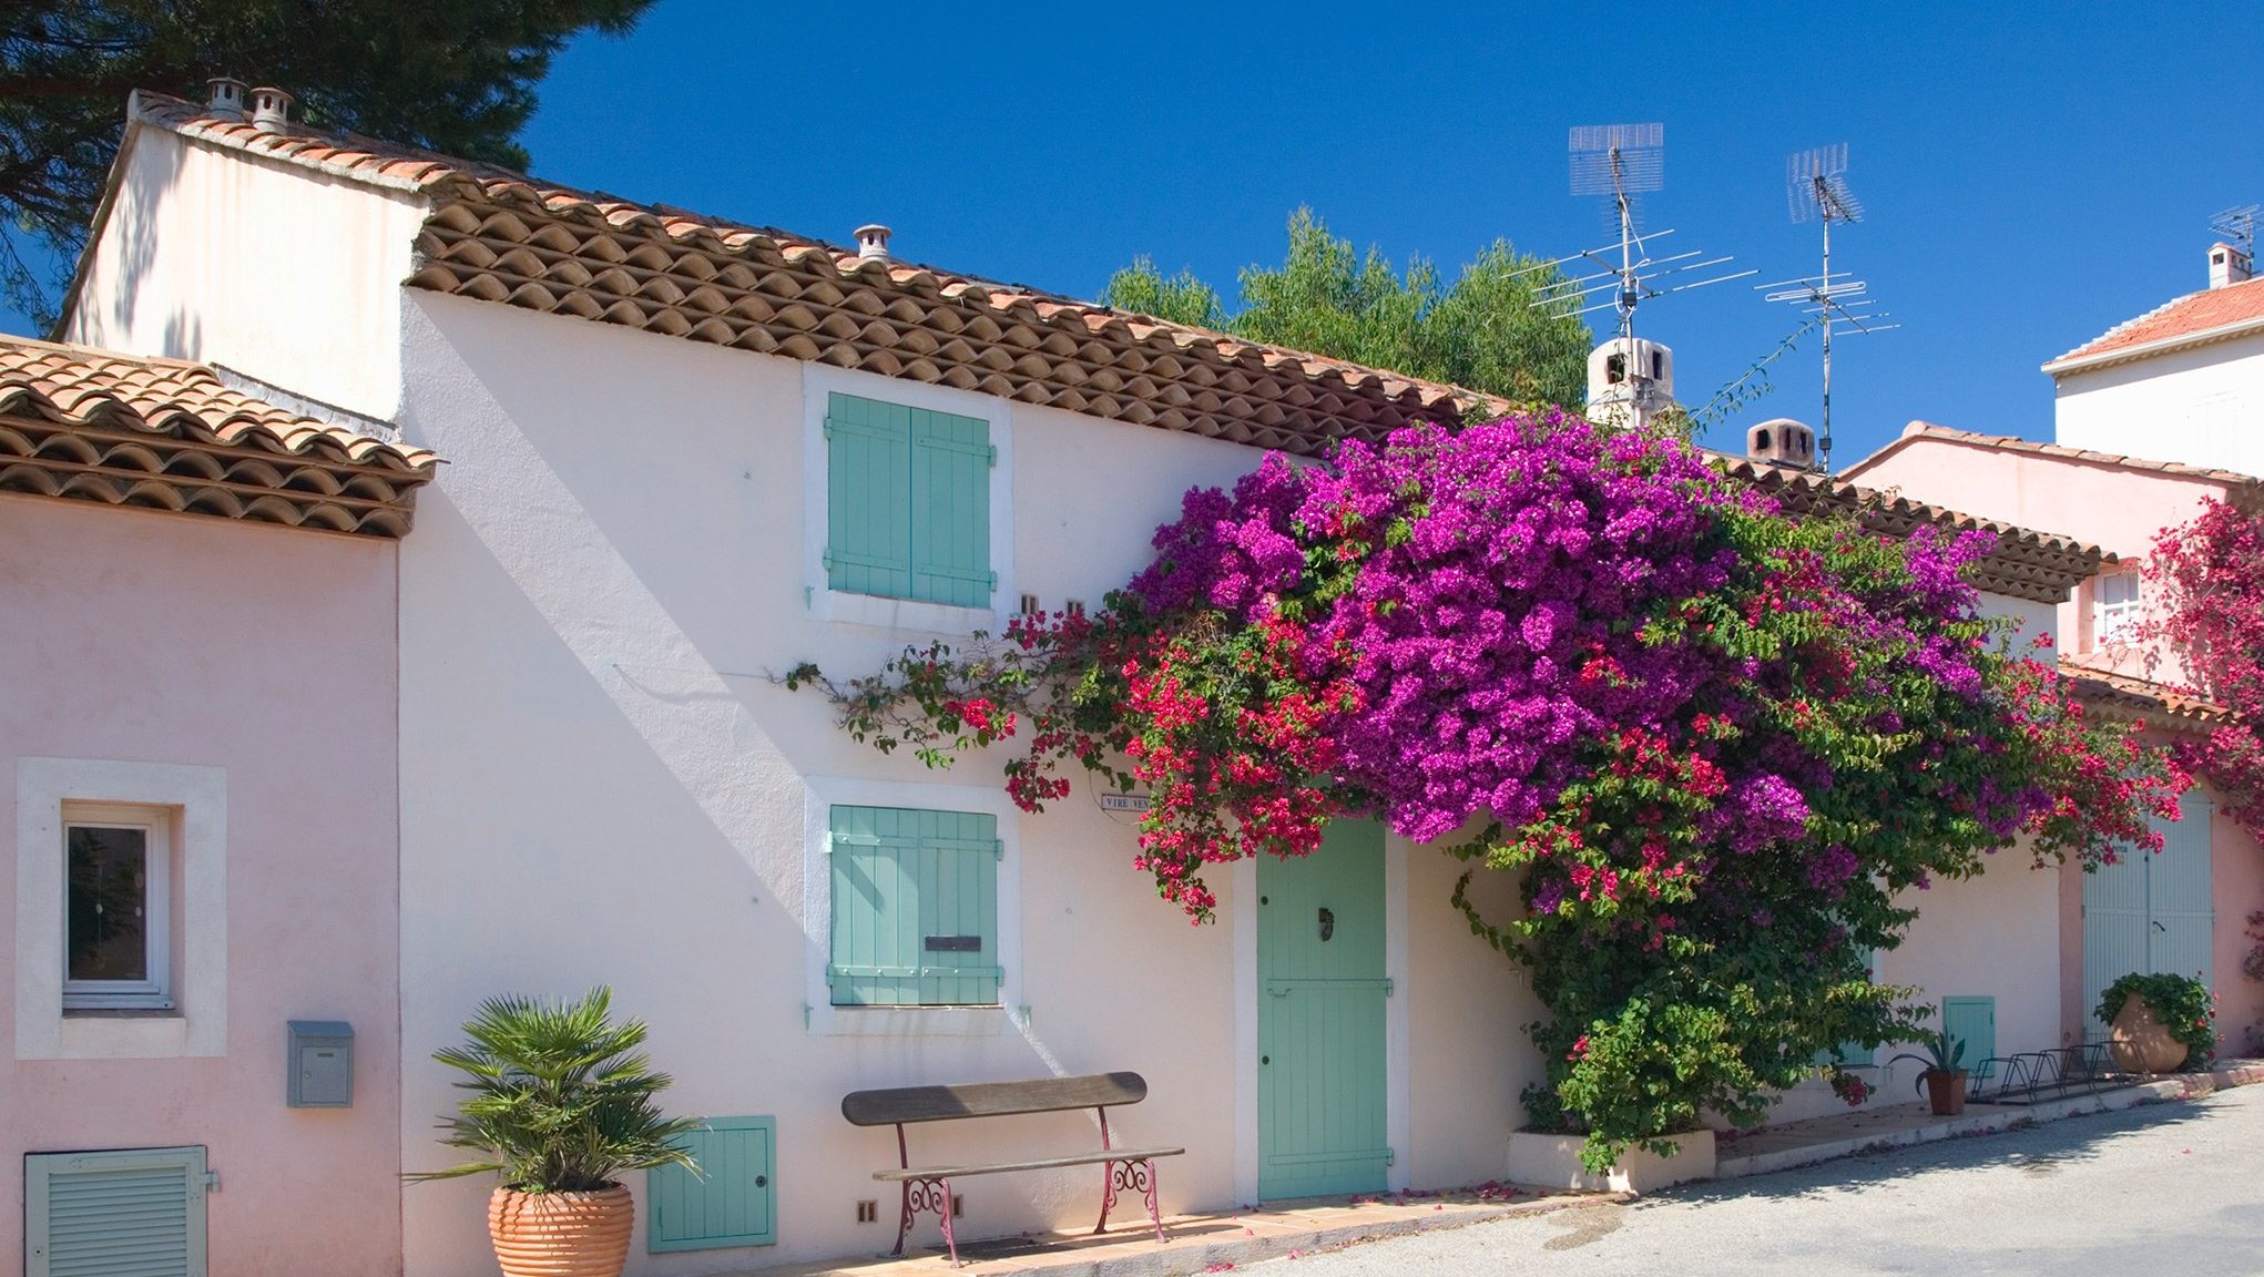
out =
[[[2264,475],[2264,333],[2056,378],[2056,439]]]

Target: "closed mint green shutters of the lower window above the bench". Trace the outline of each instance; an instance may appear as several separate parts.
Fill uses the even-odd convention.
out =
[[[998,817],[835,806],[833,1005],[998,1003]]]

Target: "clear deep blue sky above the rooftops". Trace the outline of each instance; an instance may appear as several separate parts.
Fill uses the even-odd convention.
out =
[[[2207,217],[2264,202],[2235,9],[661,0],[559,59],[525,143],[555,181],[833,240],[878,220],[967,274],[1096,297],[1150,254],[1232,299],[1300,204],[1447,269],[1603,242],[1564,131],[1628,120],[1666,125],[1653,226],[1809,274],[1784,156],[1845,140],[1870,220],[1836,263],[1904,322],[1836,351],[1852,462],[1913,417],[2049,439],[2038,365],[2205,283]],[[1684,401],[1793,328],[1746,283],[1644,308]],[[1816,419],[1813,337],[1739,426],[1773,414]]]

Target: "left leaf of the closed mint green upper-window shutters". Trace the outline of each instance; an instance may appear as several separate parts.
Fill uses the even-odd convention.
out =
[[[826,589],[912,593],[912,410],[826,401]]]

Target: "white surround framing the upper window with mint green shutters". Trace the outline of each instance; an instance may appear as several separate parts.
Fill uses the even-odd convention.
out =
[[[842,625],[869,625],[881,629],[915,629],[924,634],[974,634],[1001,632],[1012,618],[1007,600],[1019,600],[1014,591],[1014,405],[992,394],[955,389],[949,385],[926,385],[881,374],[835,369],[829,365],[801,367],[801,593],[817,620]],[[946,602],[921,602],[912,598],[885,598],[876,593],[849,593],[831,586],[826,575],[826,539],[831,537],[831,455],[826,448],[826,405],[833,394],[854,394],[903,408],[926,408],[951,412],[953,417],[978,417],[989,423],[989,444],[996,462],[989,471],[989,534],[992,573],[998,584],[992,589],[992,607],[953,607]]]

